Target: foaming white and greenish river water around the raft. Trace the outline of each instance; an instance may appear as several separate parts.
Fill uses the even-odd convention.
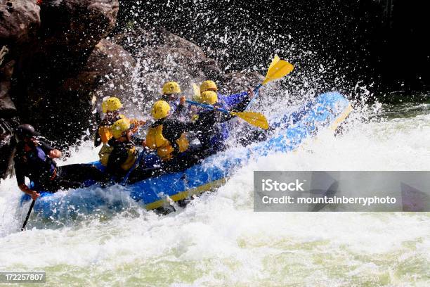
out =
[[[253,212],[254,170],[430,170],[430,105],[378,109],[164,216],[116,186],[94,192],[119,210],[32,215],[18,232],[28,205],[17,211],[15,178],[1,181],[0,271],[45,271],[48,286],[430,286],[430,212]],[[66,163],[96,158],[84,144]]]

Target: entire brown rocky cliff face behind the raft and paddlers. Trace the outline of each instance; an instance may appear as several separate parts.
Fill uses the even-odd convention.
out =
[[[127,113],[142,116],[168,80],[188,95],[204,79],[226,92],[261,80],[223,74],[198,46],[161,28],[110,39],[118,11],[118,0],[0,0],[1,176],[19,123],[73,144],[94,132],[104,96],[122,98]]]

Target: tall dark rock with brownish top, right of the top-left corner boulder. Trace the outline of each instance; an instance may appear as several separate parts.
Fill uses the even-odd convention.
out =
[[[15,72],[23,121],[68,143],[91,126],[91,91],[103,82],[83,80],[81,72],[114,27],[118,6],[117,0],[43,1],[39,39],[22,53]]]

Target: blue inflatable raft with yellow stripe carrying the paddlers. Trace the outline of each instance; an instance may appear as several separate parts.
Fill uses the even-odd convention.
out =
[[[305,139],[317,134],[319,129],[337,129],[351,110],[349,101],[338,92],[321,94],[291,115],[284,115],[273,122],[271,127],[277,128],[278,132],[266,141],[253,144],[248,148],[240,148],[234,153],[230,149],[211,155],[199,164],[180,172],[150,177],[127,186],[118,185],[117,191],[122,195],[125,192],[133,200],[145,205],[148,210],[162,208],[171,200],[182,200],[221,186],[250,158],[261,157],[268,153],[287,153],[299,147]],[[68,205],[69,210],[72,208],[72,210],[86,210],[86,212],[91,212],[100,205],[106,205],[105,200],[100,197],[103,189],[94,186],[87,189],[97,189],[97,191],[88,193],[86,189],[77,189],[66,193],[41,193],[41,198],[34,205],[34,211],[44,217],[51,217],[58,214],[58,208],[62,205]],[[112,192],[111,188],[110,192]],[[74,196],[71,197],[70,194]],[[21,203],[27,200],[30,200],[30,196],[25,195]]]

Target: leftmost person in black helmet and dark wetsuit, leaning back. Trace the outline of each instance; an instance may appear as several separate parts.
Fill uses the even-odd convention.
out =
[[[15,156],[16,181],[20,190],[36,200],[39,191],[56,192],[59,189],[76,189],[86,180],[104,181],[104,175],[93,165],[77,164],[58,167],[55,158],[61,152],[38,139],[39,133],[32,125],[20,125],[15,130],[18,141]],[[30,188],[25,177],[32,181]]]

